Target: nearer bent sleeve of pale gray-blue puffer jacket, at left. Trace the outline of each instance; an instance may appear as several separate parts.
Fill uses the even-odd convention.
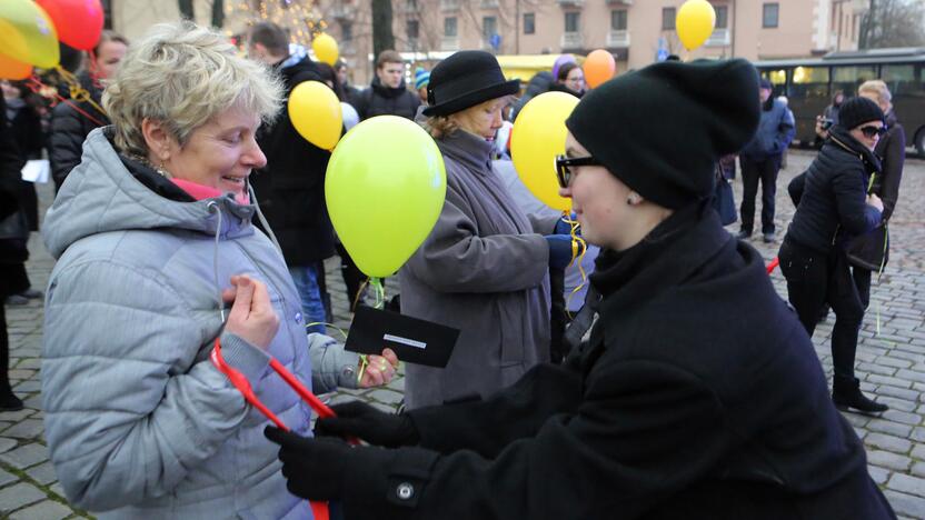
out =
[[[168,494],[241,426],[249,408],[205,356],[212,338],[192,316],[158,273],[132,266],[96,260],[52,273],[42,408],[74,506],[103,511]],[[228,332],[220,340],[226,361],[256,384],[267,354]]]

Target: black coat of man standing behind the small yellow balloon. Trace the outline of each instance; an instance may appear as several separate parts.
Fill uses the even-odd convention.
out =
[[[320,81],[309,58],[279,70],[286,97],[304,81]],[[258,144],[267,166],[250,176],[260,209],[289,267],[311,266],[334,256],[334,228],[325,203],[325,171],[331,154],[302,138],[286,107]]]

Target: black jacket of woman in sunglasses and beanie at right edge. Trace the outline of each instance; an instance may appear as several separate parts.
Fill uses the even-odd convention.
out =
[[[787,186],[796,212],[785,240],[828,253],[879,226],[879,210],[866,202],[869,177],[879,172],[871,150],[847,130],[832,127],[809,168]]]

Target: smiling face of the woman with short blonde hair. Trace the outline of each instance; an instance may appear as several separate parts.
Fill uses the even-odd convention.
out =
[[[259,127],[258,116],[228,109],[193,130],[182,148],[175,139],[165,138],[167,159],[165,150],[153,150],[151,162],[161,162],[178,179],[231,192],[240,199],[247,192],[250,172],[267,164],[255,139]]]

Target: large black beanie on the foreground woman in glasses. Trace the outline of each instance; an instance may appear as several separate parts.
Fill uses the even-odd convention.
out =
[[[752,139],[759,102],[748,61],[665,61],[591,90],[566,127],[626,186],[677,209],[713,193],[716,161]]]

